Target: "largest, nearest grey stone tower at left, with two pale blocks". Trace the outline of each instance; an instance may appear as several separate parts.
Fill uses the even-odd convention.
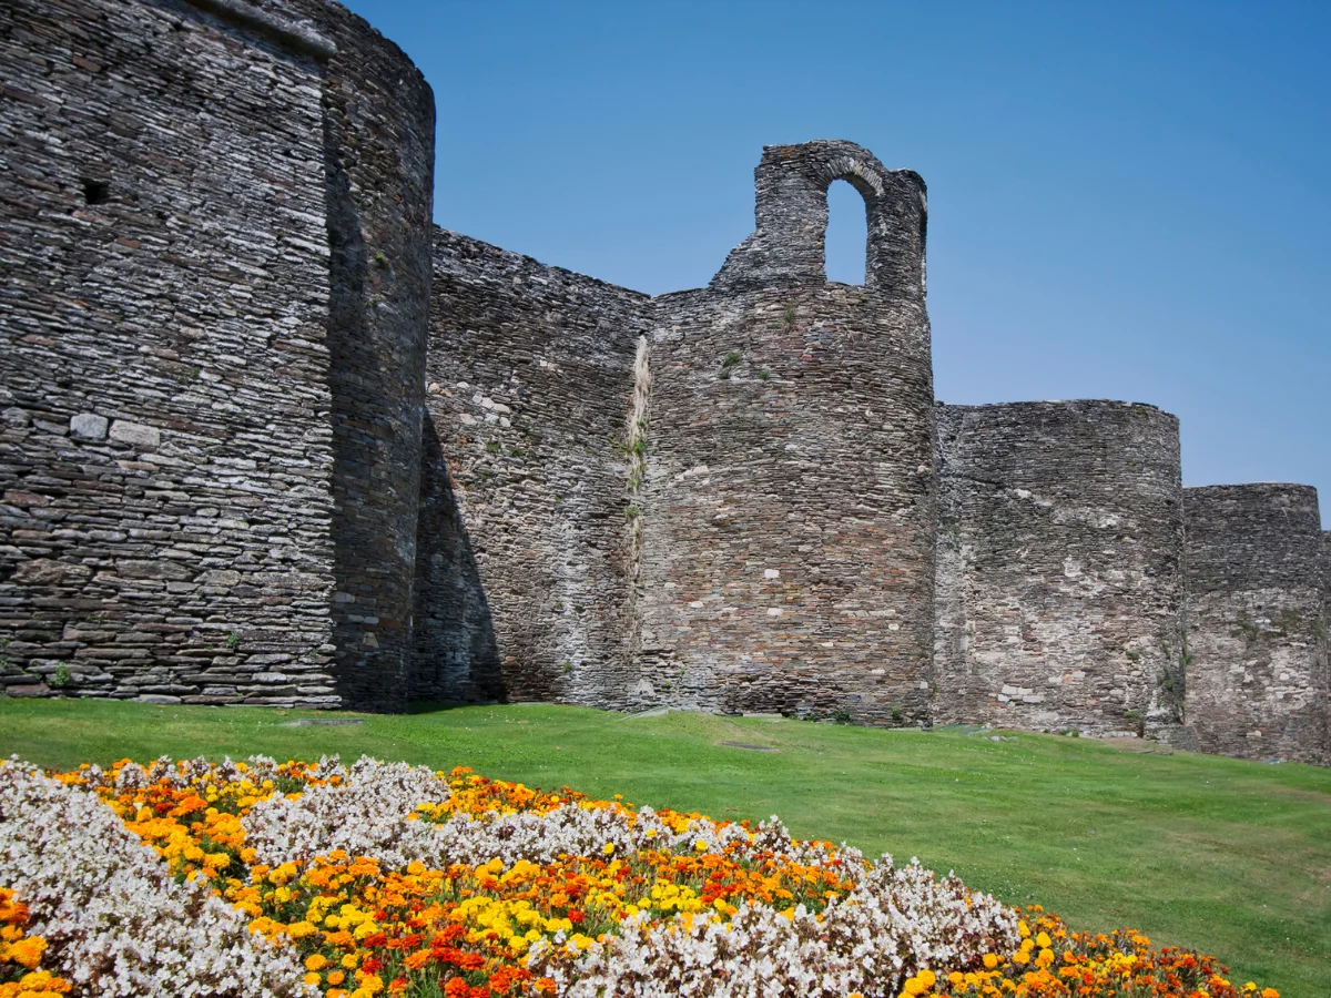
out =
[[[339,647],[330,601],[387,587],[337,556],[333,523],[385,427],[330,369],[423,347],[429,89],[313,0],[16,0],[0,79],[3,681],[373,699],[346,681],[363,653]],[[391,315],[359,327],[345,317],[371,282],[342,236],[330,254],[355,229],[401,250]],[[419,365],[385,365],[399,377],[419,393]],[[334,409],[374,439],[334,431]],[[377,547],[414,534],[414,472],[405,496],[373,499],[401,507]]]

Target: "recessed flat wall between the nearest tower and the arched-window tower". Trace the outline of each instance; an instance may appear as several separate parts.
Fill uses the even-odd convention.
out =
[[[619,703],[647,297],[437,230],[413,691]]]

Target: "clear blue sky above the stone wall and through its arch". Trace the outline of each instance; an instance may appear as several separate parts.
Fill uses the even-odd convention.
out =
[[[849,138],[929,185],[938,398],[1150,402],[1185,484],[1306,482],[1331,522],[1331,4],[347,5],[434,86],[441,225],[696,287],[764,144]]]

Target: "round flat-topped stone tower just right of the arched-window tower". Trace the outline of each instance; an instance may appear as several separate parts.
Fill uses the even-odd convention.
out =
[[[936,719],[1167,728],[1183,700],[1178,420],[938,406]]]

